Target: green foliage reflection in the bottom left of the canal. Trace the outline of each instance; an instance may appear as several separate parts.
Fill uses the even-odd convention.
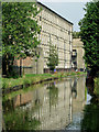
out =
[[[10,102],[11,103],[11,102]],[[38,120],[30,117],[33,111],[22,110],[20,108],[13,110],[13,105],[9,103],[9,109],[12,111],[4,114],[6,129],[8,131],[22,131],[22,130],[35,130],[41,124]],[[7,108],[7,106],[4,106]],[[11,108],[10,108],[11,107]],[[4,108],[4,110],[6,110]]]

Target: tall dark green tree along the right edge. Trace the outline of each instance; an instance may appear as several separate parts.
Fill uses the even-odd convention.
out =
[[[85,62],[92,76],[99,72],[99,1],[87,2],[85,16],[80,20],[80,37],[84,42]]]

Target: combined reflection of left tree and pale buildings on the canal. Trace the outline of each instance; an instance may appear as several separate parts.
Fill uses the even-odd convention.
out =
[[[85,105],[85,77],[45,84],[3,102],[7,130],[58,130]]]

